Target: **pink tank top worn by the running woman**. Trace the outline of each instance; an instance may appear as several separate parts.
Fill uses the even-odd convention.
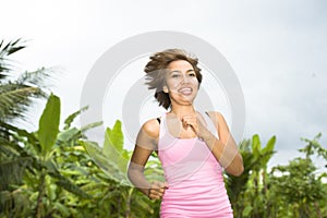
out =
[[[217,136],[213,121],[203,117]],[[233,217],[220,164],[197,137],[172,136],[166,113],[160,122],[158,155],[169,184],[161,201],[161,218]]]

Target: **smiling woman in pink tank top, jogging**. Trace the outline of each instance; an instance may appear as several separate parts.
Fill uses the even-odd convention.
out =
[[[147,85],[168,109],[141,128],[129,166],[129,179],[150,199],[160,199],[160,217],[232,217],[222,169],[243,172],[243,160],[223,117],[196,111],[193,101],[202,82],[197,59],[180,49],[150,57]],[[149,183],[144,166],[158,153],[165,182]]]

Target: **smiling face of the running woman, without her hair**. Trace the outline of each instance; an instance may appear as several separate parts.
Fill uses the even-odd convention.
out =
[[[168,66],[164,92],[169,93],[171,102],[192,105],[198,89],[198,81],[191,63],[172,61]]]

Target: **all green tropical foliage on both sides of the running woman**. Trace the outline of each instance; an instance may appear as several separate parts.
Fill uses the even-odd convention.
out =
[[[149,201],[131,185],[126,168],[131,152],[124,148],[122,123],[105,132],[99,146],[87,141],[85,126],[72,123],[87,107],[73,112],[59,130],[60,99],[48,97],[36,132],[10,121],[24,114],[33,97],[46,96],[41,83],[47,70],[25,72],[12,80],[8,57],[23,49],[21,40],[0,43],[0,218],[1,217],[159,217],[160,201]],[[265,146],[258,135],[240,144],[244,172],[225,174],[234,217],[327,217],[327,173],[317,173],[312,157],[327,160],[322,134],[302,138],[304,158],[286,166],[267,165],[275,154],[276,137]],[[164,180],[157,154],[152,154],[145,174]]]

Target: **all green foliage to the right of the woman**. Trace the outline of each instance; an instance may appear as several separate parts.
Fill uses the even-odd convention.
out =
[[[267,164],[276,143],[272,136],[262,146],[258,135],[240,145],[244,172],[241,177],[227,174],[226,185],[234,217],[327,217],[327,173],[317,174],[313,155],[326,160],[326,149],[318,143],[320,134],[300,149],[305,158],[295,158],[287,166],[276,166],[270,172]]]

